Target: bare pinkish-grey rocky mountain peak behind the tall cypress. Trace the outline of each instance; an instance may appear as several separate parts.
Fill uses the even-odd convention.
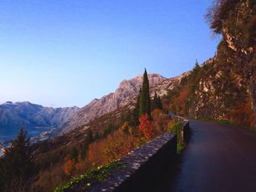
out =
[[[164,95],[167,93],[167,89],[172,89],[184,75],[187,74],[167,79],[159,74],[148,74],[151,96],[154,96],[155,92],[160,96]],[[143,74],[140,74],[138,77],[134,77],[131,80],[123,80],[115,93],[109,93],[101,99],[94,99],[91,103],[78,110],[75,115],[72,115],[72,117],[70,117],[62,126],[62,132],[68,132],[74,128],[83,126],[86,123],[89,123],[90,120],[108,114],[119,107],[128,105],[131,108],[135,103],[142,82]]]

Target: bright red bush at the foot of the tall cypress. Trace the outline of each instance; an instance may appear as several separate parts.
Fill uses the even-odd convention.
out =
[[[143,133],[143,136],[150,140],[153,133],[153,126],[151,120],[148,118],[148,114],[141,115],[140,117],[139,131]]]

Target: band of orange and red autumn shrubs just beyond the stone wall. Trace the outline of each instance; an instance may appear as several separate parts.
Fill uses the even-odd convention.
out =
[[[66,159],[64,162],[65,174],[72,176],[75,172],[79,172],[78,169],[84,169],[83,166],[92,168],[108,164],[167,131],[170,122],[168,115],[162,110],[154,110],[151,112],[151,116],[153,120],[150,120],[148,115],[142,115],[138,127],[132,127],[128,122],[124,122],[120,128],[112,131],[107,137],[91,142],[85,159],[78,158],[78,162]]]

